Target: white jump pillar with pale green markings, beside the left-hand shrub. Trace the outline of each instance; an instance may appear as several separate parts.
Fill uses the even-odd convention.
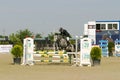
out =
[[[32,38],[24,39],[23,65],[33,65],[34,41]]]

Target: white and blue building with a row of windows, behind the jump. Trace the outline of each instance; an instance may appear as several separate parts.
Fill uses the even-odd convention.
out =
[[[89,21],[84,24],[84,35],[92,39],[94,44],[99,40],[111,38],[113,41],[120,39],[120,20]]]

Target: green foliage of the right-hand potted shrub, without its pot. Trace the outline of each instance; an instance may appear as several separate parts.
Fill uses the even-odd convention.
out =
[[[100,60],[101,59],[101,48],[100,47],[92,47],[90,56],[92,60]]]

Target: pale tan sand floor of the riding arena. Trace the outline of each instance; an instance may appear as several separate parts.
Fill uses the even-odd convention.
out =
[[[102,58],[100,66],[70,64],[21,66],[12,64],[10,54],[0,54],[0,80],[120,80],[120,57]]]

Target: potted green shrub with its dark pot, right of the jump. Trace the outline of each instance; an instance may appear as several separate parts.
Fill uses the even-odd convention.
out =
[[[93,65],[99,65],[100,64],[101,54],[102,54],[102,52],[101,52],[100,47],[98,47],[98,46],[92,47],[91,52],[90,52],[90,57],[92,59]]]

